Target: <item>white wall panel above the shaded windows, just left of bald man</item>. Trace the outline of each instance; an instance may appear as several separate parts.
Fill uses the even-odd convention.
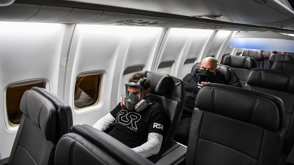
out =
[[[168,29],[154,71],[161,62],[173,60],[175,62],[172,75],[180,77],[181,74],[187,74],[181,73],[185,60],[196,57],[195,63],[201,61],[213,34],[213,30]]]

